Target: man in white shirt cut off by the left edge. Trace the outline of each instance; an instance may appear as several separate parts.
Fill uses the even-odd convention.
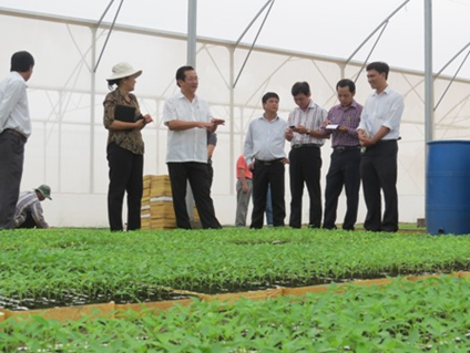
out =
[[[14,53],[10,74],[0,83],[0,229],[13,228],[24,144],[31,135],[27,81],[33,66],[34,59],[30,53]]]

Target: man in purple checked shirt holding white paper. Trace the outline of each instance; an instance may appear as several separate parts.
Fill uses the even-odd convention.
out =
[[[345,186],[347,209],[343,229],[354,230],[357,220],[360,187],[360,144],[356,128],[360,122],[362,106],[354,96],[356,84],[351,80],[340,80],[336,84],[338,105],[329,110],[321,131],[331,135],[331,162],[326,176],[325,217],[323,228],[336,229],[338,198]]]

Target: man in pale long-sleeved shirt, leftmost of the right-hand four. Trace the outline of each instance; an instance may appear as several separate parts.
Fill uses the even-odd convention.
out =
[[[284,166],[288,163],[284,150],[287,122],[277,115],[279,96],[268,92],[263,96],[262,117],[255,118],[246,133],[244,156],[253,170],[253,212],[249,228],[263,228],[267,190],[270,186],[273,226],[284,227]]]

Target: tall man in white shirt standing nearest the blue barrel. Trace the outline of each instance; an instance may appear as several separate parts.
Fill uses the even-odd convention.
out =
[[[375,90],[366,101],[357,128],[366,147],[360,162],[367,216],[364,228],[370,231],[398,230],[397,141],[403,114],[403,96],[387,84],[389,68],[385,62],[367,65],[367,80]],[[381,217],[381,196],[385,211]]]

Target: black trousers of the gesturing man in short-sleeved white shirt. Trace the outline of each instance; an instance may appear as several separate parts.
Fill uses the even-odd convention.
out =
[[[167,163],[172,184],[173,208],[176,227],[191,229],[191,220],[186,207],[186,185],[190,181],[194,201],[204,229],[222,228],[215,217],[214,203],[211,198],[210,175],[206,163],[183,162]]]

